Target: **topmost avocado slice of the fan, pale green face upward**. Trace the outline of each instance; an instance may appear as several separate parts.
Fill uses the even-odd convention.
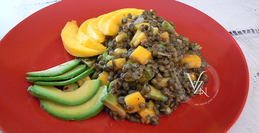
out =
[[[61,65],[55,66],[53,68],[49,68],[44,71],[38,71],[38,72],[28,72],[26,73],[29,77],[53,77],[58,76],[60,74],[63,74],[69,70],[74,69],[79,64],[79,59],[74,59],[71,61],[68,61],[66,63],[63,63]]]

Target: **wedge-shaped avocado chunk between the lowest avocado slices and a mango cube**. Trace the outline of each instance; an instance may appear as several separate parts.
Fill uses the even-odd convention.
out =
[[[121,118],[125,118],[127,112],[123,106],[117,102],[117,98],[113,94],[107,93],[100,101],[112,111],[119,113]]]

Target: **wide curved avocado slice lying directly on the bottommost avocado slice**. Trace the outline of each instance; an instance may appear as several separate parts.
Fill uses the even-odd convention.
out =
[[[91,99],[102,84],[101,80],[87,80],[75,91],[64,92],[54,86],[34,85],[28,88],[31,95],[64,105],[79,105]]]

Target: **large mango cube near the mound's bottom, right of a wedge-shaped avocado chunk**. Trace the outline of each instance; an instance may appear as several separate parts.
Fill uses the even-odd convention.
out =
[[[138,112],[139,110],[141,110],[139,108],[139,104],[141,102],[144,102],[144,103],[146,102],[139,92],[134,92],[132,94],[125,96],[124,100],[127,106],[134,106],[134,110],[132,111],[127,110],[128,113]]]

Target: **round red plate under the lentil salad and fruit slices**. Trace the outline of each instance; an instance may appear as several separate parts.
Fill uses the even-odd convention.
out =
[[[45,70],[74,57],[63,47],[61,30],[68,21],[83,21],[122,8],[153,9],[173,21],[176,31],[201,45],[210,63],[204,86],[207,95],[183,103],[158,126],[115,122],[102,111],[83,121],[64,121],[40,108],[38,98],[27,91],[26,72]],[[0,129],[24,132],[218,132],[225,133],[242,112],[249,88],[245,57],[233,37],[201,11],[177,1],[64,0],[50,5],[19,23],[0,42]],[[210,101],[210,102],[208,102]],[[207,102],[207,104],[205,104]]]

